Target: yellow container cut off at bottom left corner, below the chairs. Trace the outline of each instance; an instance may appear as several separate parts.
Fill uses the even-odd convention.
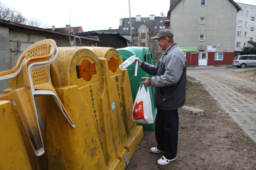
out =
[[[0,169],[32,170],[10,100],[0,100]],[[22,122],[21,122],[22,123]]]

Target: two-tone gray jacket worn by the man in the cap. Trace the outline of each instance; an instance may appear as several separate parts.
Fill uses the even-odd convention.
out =
[[[156,66],[142,63],[141,68],[154,75],[151,86],[156,87],[155,105],[159,109],[178,109],[186,100],[186,57],[174,43],[164,51]]]

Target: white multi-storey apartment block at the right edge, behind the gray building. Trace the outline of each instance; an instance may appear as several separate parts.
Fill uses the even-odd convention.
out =
[[[237,3],[241,10],[236,16],[235,55],[239,55],[244,47],[256,44],[256,6]]]

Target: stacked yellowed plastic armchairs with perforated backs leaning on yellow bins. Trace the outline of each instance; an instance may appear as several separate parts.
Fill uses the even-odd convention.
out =
[[[36,96],[52,95],[58,107],[60,107],[64,116],[68,119],[68,122],[72,127],[75,127],[62,102],[60,102],[50,80],[50,64],[56,59],[57,53],[55,41],[44,39],[26,48],[12,70],[0,72],[0,80],[12,78],[19,73],[23,75],[24,82],[17,82],[17,84],[22,84],[23,87],[16,88],[8,94],[0,95],[0,99],[12,100],[12,103],[18,107],[20,117],[36,156],[44,153],[40,129],[45,129]],[[20,72],[21,68],[22,72]]]

